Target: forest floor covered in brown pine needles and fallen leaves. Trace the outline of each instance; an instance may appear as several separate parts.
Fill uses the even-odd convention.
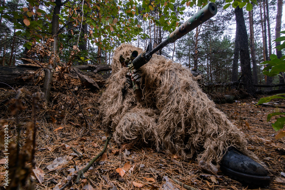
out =
[[[36,169],[31,174],[35,189],[57,190],[72,177],[74,182],[77,175],[74,167],[76,166],[77,171],[85,167],[101,152],[109,136],[96,118],[101,92],[95,93],[77,87],[79,85],[72,82],[70,85],[74,86],[72,91],[82,105],[88,122],[87,129],[76,99],[64,85],[53,89],[51,107],[43,101],[40,102],[42,109],[37,111],[39,128],[36,136]],[[16,91],[11,88],[0,89],[0,118],[5,119],[10,127],[10,140],[17,139],[15,115],[11,116],[8,109],[12,104],[8,102],[15,97]],[[38,87],[25,87],[20,95],[26,106],[26,109],[19,112],[20,122],[23,124],[20,135],[22,144],[25,142],[27,122],[32,120],[31,97],[36,91],[39,91]],[[266,117],[268,113],[285,110],[254,106],[257,101],[258,99],[249,98],[217,107],[240,128],[249,143],[248,149],[267,166],[271,183],[264,189],[281,190],[285,187],[285,139],[275,140],[276,132],[271,126],[275,117],[270,122],[266,122]],[[285,106],[285,101],[280,105]],[[82,154],[83,158],[79,158],[72,147]],[[0,150],[1,186],[4,184],[2,174],[5,171],[3,155],[3,150]],[[195,159],[182,160],[176,155],[157,152],[154,148],[132,142],[117,144],[113,139],[110,140],[105,154],[84,175],[86,178],[80,184],[66,189],[185,189],[172,179],[196,189],[254,189],[242,185],[222,172],[211,175],[203,171]]]

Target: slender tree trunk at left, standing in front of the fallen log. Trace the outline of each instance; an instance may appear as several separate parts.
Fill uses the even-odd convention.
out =
[[[59,22],[58,15],[60,14],[60,9],[62,6],[61,0],[55,0],[56,6],[54,7],[54,12],[52,14],[52,38],[54,42],[52,42],[53,55],[50,56],[50,59],[53,59],[49,62],[47,68],[44,70],[44,87],[43,91],[45,93],[45,100],[47,102],[50,101],[50,88],[52,83],[52,76],[54,69],[56,67],[56,57],[57,57],[57,49],[58,49],[58,30],[59,30]],[[51,64],[53,63],[53,64]]]

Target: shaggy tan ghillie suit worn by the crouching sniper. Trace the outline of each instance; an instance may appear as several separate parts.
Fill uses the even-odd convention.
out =
[[[219,166],[225,150],[234,146],[258,161],[247,150],[243,134],[215,108],[191,71],[172,60],[154,54],[141,67],[145,80],[143,98],[137,98],[132,88],[123,96],[128,69],[121,68],[119,57],[126,58],[133,50],[143,52],[130,44],[115,50],[112,76],[100,101],[103,126],[114,132],[116,142],[151,143],[182,158],[197,154],[199,162],[210,166]]]

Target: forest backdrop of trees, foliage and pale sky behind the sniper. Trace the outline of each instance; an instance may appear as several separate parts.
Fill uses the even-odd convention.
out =
[[[151,40],[156,46],[207,3],[185,0],[0,2],[2,66],[17,65],[21,58],[31,57],[40,64],[49,62],[51,65],[52,60],[70,65],[86,65],[92,60],[111,64],[113,50],[121,43],[146,49]],[[215,17],[158,54],[185,67],[201,70],[205,82],[237,81],[241,67],[238,47],[235,47],[237,35],[233,32],[236,31],[234,8],[239,5],[244,7],[248,35],[244,37],[250,44],[253,82],[284,83],[278,76],[265,77],[264,65],[261,65],[272,53],[276,54],[273,40],[279,37],[280,27],[285,26],[280,22],[282,0],[215,3],[218,7]]]

